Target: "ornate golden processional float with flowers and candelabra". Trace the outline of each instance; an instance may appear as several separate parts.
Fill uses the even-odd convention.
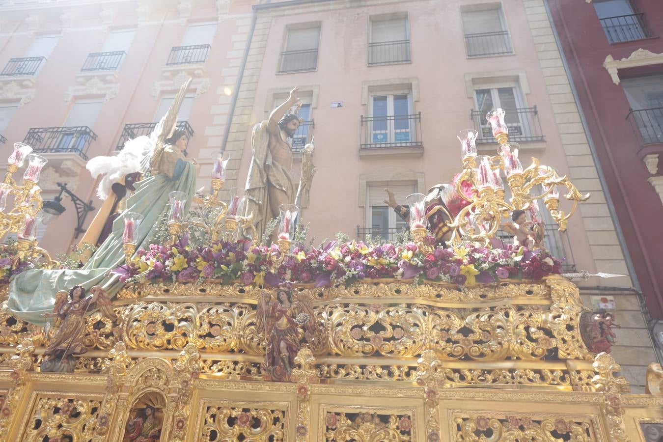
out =
[[[276,244],[261,245],[252,217],[239,216],[245,192],[218,199],[219,156],[210,195],[196,197],[198,217],[184,217],[182,195],[171,195],[167,247],[134,250],[141,218],[125,217],[126,264],[116,271],[126,285],[85,316],[73,372],[43,370],[67,316],[53,327],[22,321],[5,284],[0,439],[660,440],[663,370],[652,364],[648,394],[629,394],[607,353],[611,316],[584,307],[560,262],[538,249],[536,201],[564,229],[588,195],[535,158],[522,168],[503,113],[489,121],[497,156],[477,156],[476,133],[459,137],[463,171],[443,195],[456,213],[410,195],[412,239],[400,243],[304,247],[293,206],[282,207]],[[5,247],[2,259],[15,256],[3,276],[30,260],[60,265],[32,239],[38,171],[18,186],[11,174],[22,158],[10,160],[17,167],[0,189],[3,209],[15,195],[3,229],[20,233]],[[31,157],[28,170],[40,161]],[[569,213],[557,186],[568,188]],[[518,210],[530,216],[512,226],[521,245],[492,241]],[[448,231],[432,212],[446,215]],[[210,243],[182,241],[196,229]],[[448,245],[430,231],[448,234]],[[247,232],[253,241],[237,239]],[[55,355],[62,363],[68,348]]]

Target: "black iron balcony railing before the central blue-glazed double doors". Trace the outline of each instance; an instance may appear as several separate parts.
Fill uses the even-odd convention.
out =
[[[361,115],[363,149],[385,147],[420,147],[421,112],[414,115],[364,117]]]

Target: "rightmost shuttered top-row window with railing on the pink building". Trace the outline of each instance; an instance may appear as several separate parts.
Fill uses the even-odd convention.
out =
[[[513,53],[501,9],[467,11],[462,13],[462,18],[468,57]]]

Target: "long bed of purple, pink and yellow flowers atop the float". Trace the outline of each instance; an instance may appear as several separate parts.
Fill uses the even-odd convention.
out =
[[[324,247],[295,246],[281,254],[276,245],[255,246],[250,241],[217,241],[192,248],[182,241],[172,247],[151,245],[137,251],[129,264],[114,270],[123,282],[239,281],[246,286],[314,284],[325,287],[359,280],[394,278],[448,282],[459,286],[489,284],[507,279],[541,280],[560,274],[562,262],[546,250],[528,250],[463,244],[427,247],[415,243],[369,244],[362,241]]]

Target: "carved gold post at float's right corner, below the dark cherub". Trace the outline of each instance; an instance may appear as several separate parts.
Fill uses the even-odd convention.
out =
[[[629,382],[623,376],[615,376],[621,366],[607,353],[599,353],[593,363],[596,376],[591,380],[597,392],[603,393],[603,418],[613,442],[628,442],[622,415],[621,394],[631,391]]]

